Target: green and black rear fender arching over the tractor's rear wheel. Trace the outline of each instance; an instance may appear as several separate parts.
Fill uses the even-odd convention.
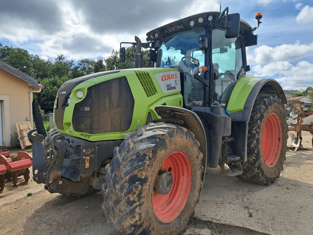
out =
[[[233,88],[229,97],[227,109],[231,112],[232,134],[241,161],[247,161],[248,123],[259,93],[269,93],[287,102],[284,90],[274,79],[261,79],[251,75],[242,76]]]

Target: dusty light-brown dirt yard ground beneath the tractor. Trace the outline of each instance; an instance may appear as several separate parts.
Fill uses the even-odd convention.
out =
[[[304,148],[287,151],[284,170],[271,185],[246,183],[208,168],[195,218],[183,235],[313,234],[311,138],[303,132]],[[10,150],[12,156],[18,151]],[[0,235],[117,235],[106,222],[102,201],[99,192],[76,199],[50,194],[43,185],[19,177],[16,187],[6,182],[0,191]]]

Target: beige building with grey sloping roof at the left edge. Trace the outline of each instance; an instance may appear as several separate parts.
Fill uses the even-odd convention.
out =
[[[0,60],[0,148],[18,146],[16,122],[33,127],[33,93],[43,86],[36,79]]]

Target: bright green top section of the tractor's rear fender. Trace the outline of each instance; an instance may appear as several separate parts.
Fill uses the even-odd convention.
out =
[[[262,79],[247,74],[241,76],[233,88],[226,108],[231,113],[243,110],[252,88],[260,80]]]

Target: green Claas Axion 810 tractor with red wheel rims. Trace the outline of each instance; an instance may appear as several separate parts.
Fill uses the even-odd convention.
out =
[[[65,82],[56,129],[28,135],[33,180],[68,196],[101,190],[122,234],[182,232],[206,167],[274,182],[285,161],[286,98],[275,80],[246,74],[256,28],[228,8],[192,15],[151,30],[146,43],[135,37],[134,69]],[[150,68],[141,68],[141,47],[150,48]]]

